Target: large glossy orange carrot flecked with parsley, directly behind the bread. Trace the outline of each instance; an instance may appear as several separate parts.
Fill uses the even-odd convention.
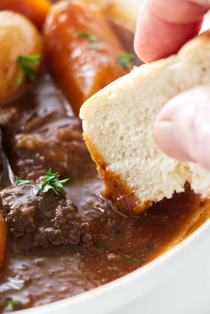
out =
[[[77,36],[85,32],[91,42]],[[43,26],[48,69],[76,115],[83,102],[115,79],[128,73],[117,57],[125,53],[102,14],[82,3],[60,1],[51,7]],[[91,49],[91,45],[97,49]]]

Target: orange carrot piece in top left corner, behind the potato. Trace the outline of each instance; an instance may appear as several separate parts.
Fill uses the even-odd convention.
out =
[[[23,14],[41,30],[50,5],[48,0],[1,0],[0,10]]]

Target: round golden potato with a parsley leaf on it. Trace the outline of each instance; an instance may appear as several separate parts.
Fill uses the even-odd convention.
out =
[[[20,55],[42,55],[43,40],[36,27],[24,16],[0,11],[0,104],[25,86],[17,86]]]

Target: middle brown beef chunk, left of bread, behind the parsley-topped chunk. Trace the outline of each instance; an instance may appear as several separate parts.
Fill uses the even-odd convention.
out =
[[[81,121],[71,118],[64,127],[52,126],[39,133],[20,133],[14,137],[9,161],[15,175],[25,180],[44,176],[51,167],[60,178],[76,177],[92,164],[82,136]]]

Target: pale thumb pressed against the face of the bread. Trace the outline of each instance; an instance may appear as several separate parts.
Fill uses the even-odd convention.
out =
[[[154,135],[160,149],[210,170],[210,86],[172,98],[157,116]]]

